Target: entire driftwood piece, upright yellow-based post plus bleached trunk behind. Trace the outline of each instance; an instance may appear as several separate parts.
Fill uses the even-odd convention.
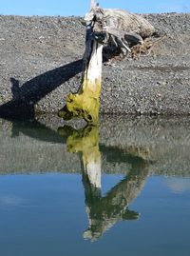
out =
[[[82,117],[87,124],[98,125],[99,98],[102,82],[103,46],[121,49],[123,56],[134,45],[155,30],[142,16],[125,10],[102,9],[91,0],[91,9],[85,14],[86,38],[82,85],[76,94],[69,94],[66,106],[58,115],[65,120]]]

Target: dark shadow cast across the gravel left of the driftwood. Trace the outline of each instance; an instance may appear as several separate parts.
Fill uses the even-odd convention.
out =
[[[0,106],[0,117],[13,119],[34,119],[34,106],[53,89],[82,71],[83,60],[77,60],[63,67],[40,74],[22,86],[10,78],[12,100]]]

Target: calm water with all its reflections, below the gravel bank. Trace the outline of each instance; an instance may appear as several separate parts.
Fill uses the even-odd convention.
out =
[[[190,255],[190,122],[0,120],[0,255]]]

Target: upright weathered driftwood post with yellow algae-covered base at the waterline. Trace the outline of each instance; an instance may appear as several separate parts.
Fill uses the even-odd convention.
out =
[[[98,8],[95,1],[91,0],[91,10]],[[84,68],[82,86],[76,94],[69,94],[66,98],[66,106],[58,115],[64,119],[82,117],[90,125],[98,125],[99,122],[99,98],[102,82],[103,44],[104,33],[98,32],[101,27],[90,12],[85,15],[86,38]]]

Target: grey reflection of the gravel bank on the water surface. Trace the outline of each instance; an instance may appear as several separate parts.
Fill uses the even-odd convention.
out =
[[[59,126],[52,116],[32,122],[0,119],[0,174],[79,173],[80,159],[66,151]],[[104,118],[99,130],[102,171],[126,175],[143,159],[151,160],[150,175],[189,177],[189,128],[187,118]],[[65,139],[72,133],[67,128]]]

